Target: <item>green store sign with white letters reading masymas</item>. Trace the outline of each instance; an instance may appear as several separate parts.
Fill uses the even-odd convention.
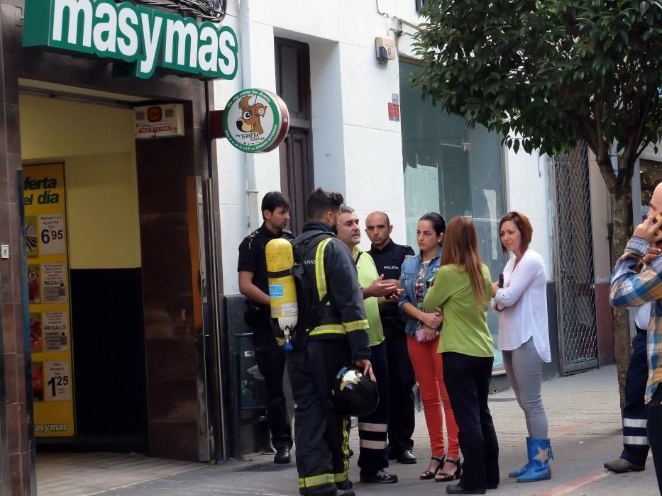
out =
[[[144,79],[157,66],[234,79],[238,67],[231,28],[110,0],[26,0],[23,46],[132,62]]]

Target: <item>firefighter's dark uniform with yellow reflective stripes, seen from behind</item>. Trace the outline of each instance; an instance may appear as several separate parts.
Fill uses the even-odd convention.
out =
[[[330,232],[329,226],[306,222],[294,243],[321,232]],[[292,338],[294,351],[287,354],[297,405],[295,436],[302,440],[297,444],[299,493],[333,496],[338,487],[348,487],[349,441],[348,419],[333,410],[329,396],[343,366],[370,359],[368,320],[354,260],[345,244],[326,237],[309,249],[302,265],[319,305],[316,322]]]

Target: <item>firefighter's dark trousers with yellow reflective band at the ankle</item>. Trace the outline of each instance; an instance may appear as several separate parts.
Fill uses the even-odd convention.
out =
[[[301,495],[335,495],[348,478],[349,419],[333,410],[329,396],[338,371],[350,364],[349,344],[336,339],[311,340],[287,354]]]

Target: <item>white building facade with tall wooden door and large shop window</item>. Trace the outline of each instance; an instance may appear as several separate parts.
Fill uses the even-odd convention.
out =
[[[259,86],[299,112],[279,154],[242,154],[226,140],[215,145],[231,355],[241,354],[246,333],[236,250],[262,222],[261,197],[278,189],[292,199],[296,233],[307,193],[321,186],[343,193],[360,222],[373,210],[385,211],[394,225],[393,239],[414,249],[416,222],[424,213],[438,211],[447,221],[472,215],[494,278],[507,261],[499,220],[509,210],[526,213],[534,226],[531,247],[544,257],[547,269],[555,355],[545,374],[558,374],[553,167],[548,157],[516,154],[502,147],[498,135],[485,128],[469,130],[462,118],[421,101],[410,84],[418,67],[412,43],[419,22],[416,1],[363,2],[351,8],[316,1],[228,4],[228,23],[241,33],[243,65],[241,79],[214,85],[216,108],[224,108],[239,89]],[[377,58],[376,38],[381,37],[391,40],[392,60]],[[362,242],[369,247],[367,237]],[[489,318],[496,333],[497,315]],[[498,351],[495,387],[508,387]],[[250,412],[238,410],[239,422],[250,424]],[[251,428],[243,424],[243,429]]]

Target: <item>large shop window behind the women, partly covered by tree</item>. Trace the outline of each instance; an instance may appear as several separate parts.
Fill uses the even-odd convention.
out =
[[[482,126],[470,130],[463,118],[421,101],[420,91],[409,86],[419,66],[400,62],[399,69],[407,244],[416,249],[416,225],[424,213],[441,213],[447,223],[469,215],[482,261],[496,281],[507,261],[499,236],[505,213],[500,137]],[[495,312],[488,312],[487,323],[496,337]],[[495,367],[502,365],[496,351]]]

